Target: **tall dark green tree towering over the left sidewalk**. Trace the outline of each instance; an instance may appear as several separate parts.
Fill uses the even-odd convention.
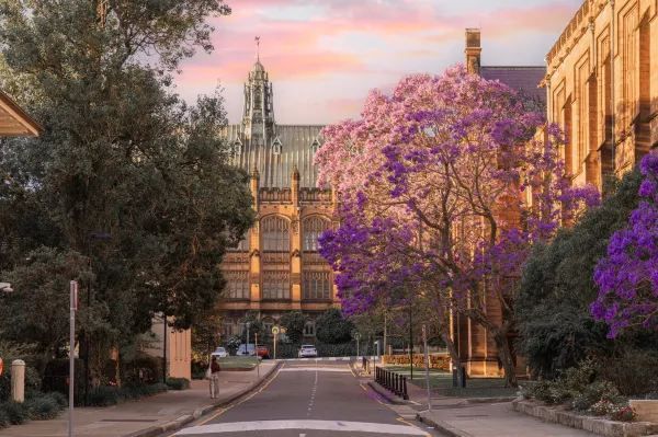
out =
[[[67,274],[83,278],[81,335],[100,359],[156,313],[189,327],[212,308],[225,285],[217,265],[253,211],[219,137],[220,95],[189,106],[172,89],[180,61],[212,49],[206,18],[229,9],[110,0],[98,12],[89,0],[0,0],[0,85],[23,90],[14,96],[44,126],[1,145],[0,267],[20,268],[42,244],[83,256],[93,274],[80,263]]]

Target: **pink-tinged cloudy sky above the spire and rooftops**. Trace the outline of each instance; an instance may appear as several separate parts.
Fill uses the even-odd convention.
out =
[[[177,88],[193,102],[222,87],[229,122],[239,122],[258,35],[276,123],[336,123],[358,117],[374,88],[463,62],[466,27],[481,30],[485,66],[544,65],[581,2],[226,0],[232,13],[211,19],[215,50],[186,60]]]

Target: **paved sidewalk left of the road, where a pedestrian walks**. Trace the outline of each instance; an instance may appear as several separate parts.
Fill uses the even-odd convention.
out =
[[[219,375],[220,398],[216,400],[209,399],[207,381],[192,381],[190,390],[169,391],[115,406],[76,409],[75,435],[76,437],[157,436],[164,425],[168,425],[168,429],[171,426],[173,430],[174,426],[180,426],[181,423],[186,423],[202,413],[208,413],[217,405],[250,391],[254,384],[262,382],[269,373],[273,372],[275,367],[276,364],[272,361],[261,364],[260,378],[256,369],[223,371]],[[27,436],[68,436],[68,410],[53,421],[33,421],[0,430],[0,437]]]

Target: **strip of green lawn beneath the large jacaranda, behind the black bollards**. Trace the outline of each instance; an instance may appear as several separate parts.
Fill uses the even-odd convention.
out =
[[[386,366],[386,369],[407,377],[412,384],[426,388],[426,371],[423,368],[413,368],[413,379],[409,366]],[[502,378],[469,378],[466,388],[454,388],[452,373],[442,370],[430,370],[430,388],[436,394],[460,398],[497,398],[513,396],[517,389],[504,387]]]

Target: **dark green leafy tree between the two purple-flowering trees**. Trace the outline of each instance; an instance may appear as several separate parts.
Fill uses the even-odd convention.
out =
[[[537,376],[554,377],[587,355],[612,347],[605,325],[590,315],[597,297],[592,276],[610,235],[636,207],[639,182],[637,172],[627,174],[600,207],[560,230],[549,244],[534,248],[523,269],[517,321],[520,353]]]

